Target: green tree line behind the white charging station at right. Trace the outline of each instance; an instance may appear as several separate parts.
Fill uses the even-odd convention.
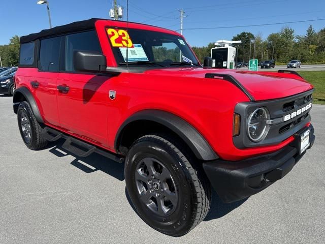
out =
[[[309,25],[306,34],[296,36],[293,28],[283,27],[280,32],[270,34],[263,40],[261,34],[253,35],[242,32],[233,37],[232,41],[242,43],[238,46],[238,62],[247,62],[249,58],[258,60],[274,59],[277,64],[286,64],[289,60],[299,59],[302,63],[325,63],[325,28],[316,32]],[[211,55],[214,43],[204,47],[192,47],[200,62],[205,56]],[[237,48],[237,44],[235,45]]]

